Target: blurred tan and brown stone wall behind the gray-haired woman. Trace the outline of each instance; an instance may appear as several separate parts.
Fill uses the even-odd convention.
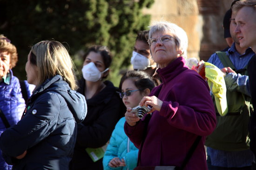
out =
[[[216,50],[227,47],[222,20],[233,0],[155,0],[151,21],[166,20],[182,27],[189,38],[188,57],[207,60]]]

